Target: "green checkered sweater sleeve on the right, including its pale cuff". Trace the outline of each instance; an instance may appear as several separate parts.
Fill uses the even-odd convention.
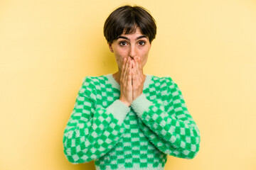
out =
[[[181,90],[166,77],[160,93],[160,98],[151,101],[142,94],[132,102],[139,126],[161,152],[193,159],[199,151],[200,131],[188,112]]]

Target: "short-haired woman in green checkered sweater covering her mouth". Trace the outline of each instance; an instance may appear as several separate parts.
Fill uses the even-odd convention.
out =
[[[118,71],[85,77],[63,135],[73,164],[96,169],[164,169],[167,155],[193,159],[200,132],[171,77],[144,74],[156,36],[154,18],[139,6],[121,6],[104,35]]]

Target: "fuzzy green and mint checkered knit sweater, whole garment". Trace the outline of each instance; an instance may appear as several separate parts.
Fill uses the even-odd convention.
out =
[[[119,101],[112,74],[85,77],[63,134],[72,164],[96,169],[164,169],[167,156],[196,157],[200,132],[171,77],[146,74],[143,93],[131,106]]]

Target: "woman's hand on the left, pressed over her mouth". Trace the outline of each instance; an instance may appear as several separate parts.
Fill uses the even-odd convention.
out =
[[[132,104],[132,61],[124,58],[120,75],[120,101],[128,107]]]

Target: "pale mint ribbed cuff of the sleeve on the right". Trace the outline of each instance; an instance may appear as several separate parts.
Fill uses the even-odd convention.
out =
[[[149,106],[153,103],[146,98],[145,94],[141,94],[134,101],[132,101],[131,107],[137,113],[137,115],[142,118],[145,111],[149,110]]]

